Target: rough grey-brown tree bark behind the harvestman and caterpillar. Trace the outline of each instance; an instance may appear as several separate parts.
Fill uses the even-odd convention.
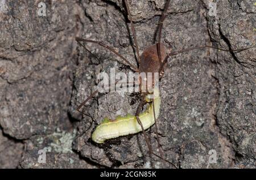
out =
[[[104,117],[134,114],[129,93],[104,93],[76,111],[97,85],[99,72],[136,66],[134,40],[121,0],[0,1],[0,168],[173,168],[150,157],[143,134],[103,145],[90,137]],[[164,0],[128,1],[139,53],[155,44]],[[199,45],[239,49],[255,45],[255,4],[250,0],[171,1],[162,42],[168,52]],[[179,168],[256,168],[256,53],[193,50],[168,59],[160,82],[158,118],[164,156]],[[155,126],[147,131],[157,151]],[[47,163],[40,163],[39,150]],[[216,151],[217,163],[209,163]]]

